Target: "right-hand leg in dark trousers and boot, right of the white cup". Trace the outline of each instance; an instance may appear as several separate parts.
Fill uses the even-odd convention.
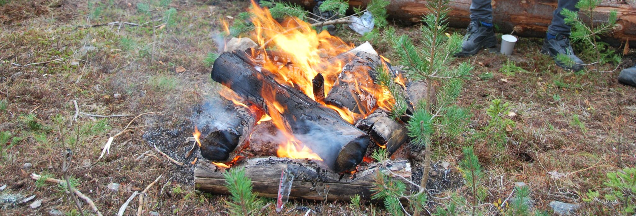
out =
[[[578,3],[578,0],[559,0],[556,10],[553,13],[552,23],[548,27],[546,32],[546,39],[543,41],[543,47],[541,53],[549,54],[555,61],[558,67],[562,67],[565,70],[579,71],[583,70],[583,61],[574,54],[572,50],[572,44],[570,44],[570,30],[572,27],[565,24],[563,20],[565,16],[561,15],[561,11],[565,8],[570,11],[578,11],[574,5]],[[567,56],[570,61],[563,62],[558,60],[558,55]],[[571,64],[571,63],[573,64]]]

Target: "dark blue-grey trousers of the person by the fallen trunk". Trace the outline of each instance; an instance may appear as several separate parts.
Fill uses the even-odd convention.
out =
[[[473,4],[471,4],[471,20],[492,23],[492,5],[490,5],[490,1],[473,0]],[[556,10],[552,16],[552,22],[548,27],[550,34],[570,34],[572,27],[565,25],[565,21],[563,21],[565,16],[561,15],[561,10],[565,8],[570,11],[579,11],[578,8],[574,7],[578,2],[579,0],[558,0]]]

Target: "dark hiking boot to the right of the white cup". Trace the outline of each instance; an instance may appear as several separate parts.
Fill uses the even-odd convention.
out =
[[[541,48],[541,53],[549,54],[558,67],[561,67],[565,70],[573,70],[579,71],[583,70],[583,61],[579,57],[574,54],[572,51],[572,44],[570,44],[570,39],[567,37],[568,35],[557,34],[556,37],[546,39],[543,41],[543,47]],[[559,61],[556,56],[558,54],[565,54],[570,60],[574,61],[574,65],[569,66],[565,63]]]

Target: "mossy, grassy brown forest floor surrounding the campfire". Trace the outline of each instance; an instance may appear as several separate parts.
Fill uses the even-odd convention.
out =
[[[208,53],[222,51],[217,44],[221,20],[233,22],[229,16],[248,5],[245,1],[0,0],[0,186],[7,186],[0,196],[35,195],[34,200],[42,200],[39,208],[0,200],[0,215],[55,211],[79,215],[64,190],[30,178],[34,173],[64,179],[67,151],[73,153],[67,174],[104,215],[118,212],[134,191],[141,192],[160,175],[147,193],[144,212],[225,215],[226,196],[196,191],[193,165],[178,156],[190,144],[149,143],[153,139],[149,132],[172,134],[174,140],[191,133],[192,108],[221,87],[212,82],[211,65],[205,63]],[[90,26],[117,21],[140,26]],[[417,41],[417,26],[396,27],[399,34]],[[353,44],[363,42],[349,29],[336,35]],[[373,44],[392,58],[386,44]],[[483,50],[458,60],[474,66],[459,102],[473,113],[471,129],[459,139],[439,140],[433,158],[456,170],[462,147],[474,146],[487,170],[484,203],[505,200],[515,182],[530,186],[530,198],[539,210],[550,210],[548,203],[554,200],[583,203],[588,190],[605,188],[607,172],[636,165],[636,88],[616,81],[621,68],[633,64],[633,52],[616,70],[614,63],[573,73],[540,54],[541,44],[541,39],[522,38],[512,56]],[[506,117],[515,124],[501,132],[505,139],[499,143],[493,142],[492,134],[483,133],[490,120],[486,109],[493,99],[508,102],[515,114]],[[129,116],[79,113],[74,118],[76,110]],[[134,120],[142,113],[148,114]],[[129,130],[114,138],[110,153],[98,160],[109,137],[131,120]],[[179,149],[171,156],[186,168],[160,155],[160,160],[140,158],[141,153],[156,153],[152,144]],[[121,188],[108,189],[111,182]],[[296,206],[308,206],[320,215],[356,214],[343,202],[291,201],[284,212]],[[88,205],[83,208],[91,213]],[[126,215],[138,208],[137,200],[132,201]],[[363,208],[369,214],[384,211],[371,204]],[[612,214],[605,210],[585,205],[580,213]],[[273,205],[264,212],[274,215]]]

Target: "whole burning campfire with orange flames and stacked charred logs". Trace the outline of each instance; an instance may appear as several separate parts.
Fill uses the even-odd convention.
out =
[[[221,108],[207,111],[193,133],[201,156],[212,163],[199,160],[197,186],[222,193],[219,170],[239,166],[253,174],[254,189],[264,196],[275,197],[281,169],[297,176],[295,181],[303,176],[292,187],[309,195],[296,190],[295,197],[348,200],[347,192],[326,194],[330,186],[353,185],[359,188],[349,195],[370,196],[372,176],[381,172],[370,153],[375,148],[394,153],[408,142],[406,119],[389,117],[394,99],[377,83],[378,76],[393,77],[410,101],[425,96],[426,84],[408,83],[368,42],[354,47],[298,18],[279,23],[255,3],[250,12],[259,47],[223,53],[212,68],[212,80],[226,88],[219,92],[223,99],[212,102]],[[254,132],[263,122],[273,125],[276,135]],[[276,136],[275,155],[242,155],[254,136]],[[405,160],[388,167],[410,178]]]

